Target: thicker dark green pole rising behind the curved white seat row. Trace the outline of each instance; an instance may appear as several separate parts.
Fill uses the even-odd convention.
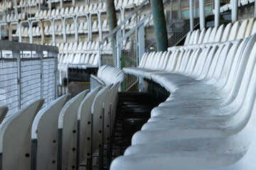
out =
[[[163,1],[151,0],[151,10],[153,13],[157,51],[166,51],[168,48],[168,38]]]

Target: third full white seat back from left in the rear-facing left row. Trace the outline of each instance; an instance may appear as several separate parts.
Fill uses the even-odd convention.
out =
[[[76,165],[78,108],[89,91],[70,99],[58,117],[58,169],[74,169]]]

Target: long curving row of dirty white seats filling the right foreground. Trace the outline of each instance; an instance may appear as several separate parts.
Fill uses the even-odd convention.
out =
[[[110,169],[255,169],[255,54],[254,33],[205,48],[145,53],[139,68],[124,68],[171,96]]]

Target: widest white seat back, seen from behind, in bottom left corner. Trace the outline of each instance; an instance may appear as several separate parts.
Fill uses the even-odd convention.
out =
[[[43,100],[35,101],[9,115],[1,123],[1,169],[31,169],[31,128],[41,106]]]

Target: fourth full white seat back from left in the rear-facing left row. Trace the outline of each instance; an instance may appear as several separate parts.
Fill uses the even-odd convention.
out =
[[[78,134],[80,139],[78,140],[78,158],[80,163],[91,157],[92,103],[95,100],[97,92],[100,91],[101,88],[102,86],[98,86],[90,91],[90,93],[82,100],[78,108],[78,124],[80,125],[80,133]]]

